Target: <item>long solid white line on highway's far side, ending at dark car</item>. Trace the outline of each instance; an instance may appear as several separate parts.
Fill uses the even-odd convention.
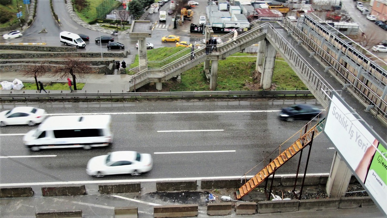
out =
[[[67,113],[67,114],[47,114],[47,116],[58,115],[98,115],[98,114],[200,114],[200,113],[255,113],[255,112],[280,112],[280,110],[265,111],[169,111],[169,112],[110,112],[110,113]]]

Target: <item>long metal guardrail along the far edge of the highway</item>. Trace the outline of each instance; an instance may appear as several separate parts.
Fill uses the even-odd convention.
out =
[[[0,100],[77,100],[77,99],[150,99],[150,98],[258,98],[305,97],[310,91],[203,91],[203,92],[126,92],[126,93],[36,93],[0,94]]]

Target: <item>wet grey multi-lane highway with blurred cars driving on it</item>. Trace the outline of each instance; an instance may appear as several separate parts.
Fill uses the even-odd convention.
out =
[[[260,163],[307,121],[280,121],[281,107],[305,100],[206,100],[149,102],[31,103],[51,115],[111,114],[114,143],[109,148],[31,152],[23,134],[34,127],[0,128],[0,185],[9,183],[120,180],[130,175],[92,178],[87,161],[111,151],[152,154],[154,168],[136,178],[240,176]],[[315,100],[308,100],[315,104]],[[24,104],[2,104],[1,110]],[[196,131],[192,131],[196,130]],[[334,150],[324,135],[315,140],[308,173],[329,173]],[[30,157],[31,156],[31,157]],[[306,155],[303,157],[305,163]],[[277,173],[296,173],[298,159]],[[305,164],[304,164],[305,165]],[[257,168],[255,171],[258,171]]]

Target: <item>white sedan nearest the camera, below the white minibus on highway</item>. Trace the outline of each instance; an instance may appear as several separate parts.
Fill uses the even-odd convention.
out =
[[[95,177],[127,173],[138,176],[152,170],[152,167],[153,160],[150,154],[141,154],[135,151],[115,151],[91,158],[87,163],[86,172]]]

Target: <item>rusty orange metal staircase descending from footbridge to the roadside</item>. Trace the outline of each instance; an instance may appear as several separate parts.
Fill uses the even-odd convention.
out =
[[[250,191],[255,189],[255,187],[257,187],[260,183],[264,182],[266,178],[272,175],[274,170],[277,170],[279,167],[285,164],[286,161],[288,161],[291,157],[295,156],[299,151],[307,147],[309,145],[309,142],[312,140],[312,137],[315,138],[322,132],[324,120],[325,118],[319,121],[312,128],[310,128],[305,134],[301,135],[301,137],[298,138],[295,143],[293,143],[285,151],[279,154],[278,157],[276,157],[261,171],[259,171],[250,180],[248,180],[245,184],[243,184],[242,187],[240,187],[235,192],[235,199],[239,200],[243,196],[246,196]]]

